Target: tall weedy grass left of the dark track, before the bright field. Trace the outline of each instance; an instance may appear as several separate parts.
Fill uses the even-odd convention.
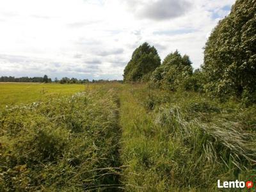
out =
[[[118,189],[114,91],[7,108],[0,113],[0,191]]]

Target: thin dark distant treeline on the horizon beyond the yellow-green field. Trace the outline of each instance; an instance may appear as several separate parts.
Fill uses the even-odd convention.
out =
[[[12,77],[12,76],[2,76],[0,77],[0,82],[17,82],[17,83],[61,83],[61,84],[76,84],[76,83],[122,83],[123,81],[121,80],[104,80],[104,79],[99,79],[99,80],[92,80],[90,81],[89,79],[76,79],[76,78],[68,78],[68,77],[63,77],[62,79],[58,80],[57,78],[52,81],[51,78],[48,78],[48,76],[44,77]]]

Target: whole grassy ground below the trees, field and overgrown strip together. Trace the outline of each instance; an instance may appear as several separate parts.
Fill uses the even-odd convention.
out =
[[[219,191],[256,175],[256,106],[147,84],[0,84],[0,100],[0,191]]]

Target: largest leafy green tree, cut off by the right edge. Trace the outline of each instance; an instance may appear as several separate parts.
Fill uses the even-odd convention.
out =
[[[256,91],[256,1],[238,0],[204,51],[205,90],[222,99]]]

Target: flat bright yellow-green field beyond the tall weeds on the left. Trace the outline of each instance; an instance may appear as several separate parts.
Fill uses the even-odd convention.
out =
[[[0,108],[83,92],[84,84],[0,83]]]

